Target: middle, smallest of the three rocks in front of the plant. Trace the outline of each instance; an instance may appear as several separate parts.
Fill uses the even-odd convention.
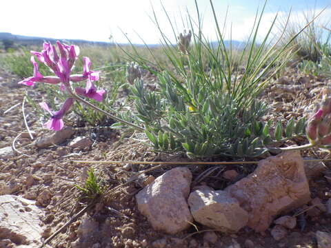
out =
[[[198,189],[188,198],[194,220],[224,232],[239,231],[248,223],[248,213],[239,201],[222,190]]]

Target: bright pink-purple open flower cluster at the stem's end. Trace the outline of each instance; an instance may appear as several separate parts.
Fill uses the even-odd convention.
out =
[[[105,90],[97,90],[93,81],[99,80],[99,73],[90,70],[91,61],[88,57],[83,57],[83,74],[72,74],[72,68],[74,68],[74,62],[79,55],[79,47],[77,45],[66,45],[57,41],[58,51],[54,45],[50,43],[43,43],[43,50],[41,52],[31,51],[31,54],[37,56],[37,59],[44,63],[55,76],[43,76],[38,70],[38,64],[34,60],[34,56],[31,56],[31,63],[33,65],[33,76],[28,79],[23,79],[19,84],[33,86],[34,83],[60,83],[62,90],[68,90],[71,92],[70,83],[76,83],[79,81],[86,81],[86,87],[75,87],[76,94],[86,96],[96,101],[102,101]],[[51,117],[44,125],[54,131],[59,131],[63,128],[63,116],[70,110],[70,107],[74,103],[73,98],[68,98],[63,103],[61,109],[57,112],[52,112],[47,103],[39,103],[39,105],[50,113]]]

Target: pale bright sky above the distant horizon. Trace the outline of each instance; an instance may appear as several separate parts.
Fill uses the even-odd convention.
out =
[[[257,10],[264,4],[264,0],[212,2],[221,27],[228,12],[225,39],[230,39],[231,34],[231,38],[238,41],[248,37]],[[175,34],[168,17],[177,34],[190,29],[188,15],[197,21],[194,0],[0,0],[0,3],[0,32],[54,39],[110,41],[112,37],[117,43],[128,43],[130,39],[132,43],[154,44],[159,43],[161,35],[153,21],[153,9],[162,32],[170,41],[174,41]],[[197,0],[197,5],[203,20],[203,34],[210,40],[216,39],[210,1]],[[319,21],[327,25],[331,18],[331,0],[269,0],[261,21],[261,37],[277,12],[279,20],[285,20],[290,7],[292,20],[300,25],[305,23],[305,16],[311,17],[313,11],[317,13],[325,7],[328,8]]]

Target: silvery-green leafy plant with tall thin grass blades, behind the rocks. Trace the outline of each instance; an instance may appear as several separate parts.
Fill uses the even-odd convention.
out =
[[[197,6],[197,1],[195,3]],[[188,156],[259,156],[268,150],[265,146],[272,141],[302,135],[304,119],[290,120],[285,132],[278,123],[272,135],[270,123],[261,122],[268,108],[257,98],[292,56],[290,41],[281,45],[280,37],[270,44],[270,33],[277,17],[258,43],[263,6],[248,42],[242,50],[236,51],[238,59],[232,54],[231,42],[225,45],[212,1],[210,4],[217,45],[203,36],[198,7],[197,24],[194,25],[189,15],[190,31],[178,37],[174,32],[176,45],[165,36],[154,13],[154,22],[163,37],[163,52],[172,69],[156,62],[159,70],[151,70],[148,61],[138,52],[128,54],[143,69],[158,77],[160,88],[150,91],[142,80],[135,81],[132,94],[137,113],[132,115],[132,120],[146,127],[146,136],[155,149],[185,151]],[[174,30],[171,21],[170,25]],[[244,70],[238,64],[243,64]]]

